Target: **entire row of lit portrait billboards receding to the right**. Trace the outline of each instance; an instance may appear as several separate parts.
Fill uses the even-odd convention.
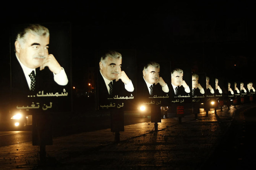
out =
[[[70,112],[70,24],[14,26],[10,37],[11,108],[28,114]],[[173,68],[171,59],[138,59],[135,50],[98,50],[96,57],[97,110],[133,110],[140,103],[203,103],[210,97],[232,99],[255,94],[252,82],[227,81],[212,74],[193,73],[190,68]],[[80,74],[76,76],[84,73]]]

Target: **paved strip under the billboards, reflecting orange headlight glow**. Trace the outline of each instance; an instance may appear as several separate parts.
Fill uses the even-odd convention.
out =
[[[256,107],[244,104],[198,114],[126,125],[120,143],[110,128],[53,138],[42,163],[32,142],[0,147],[0,170],[196,170],[205,167],[232,123],[235,112]]]

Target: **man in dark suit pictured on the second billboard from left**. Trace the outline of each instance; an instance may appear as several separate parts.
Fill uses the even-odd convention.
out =
[[[109,104],[113,97],[130,96],[134,91],[132,81],[122,71],[122,55],[117,51],[107,51],[100,57],[98,73],[99,104]]]

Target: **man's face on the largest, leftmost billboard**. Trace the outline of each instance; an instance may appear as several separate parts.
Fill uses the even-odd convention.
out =
[[[44,58],[47,58],[49,36],[40,36],[28,33],[25,37],[23,46],[15,42],[16,54],[26,67],[35,69],[42,66]]]

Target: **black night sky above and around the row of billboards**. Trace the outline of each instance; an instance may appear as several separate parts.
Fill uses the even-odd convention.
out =
[[[71,87],[84,95],[97,49],[134,49],[136,59],[255,81],[255,4],[249,1],[6,2],[1,6],[1,101],[10,96],[13,24],[71,24]],[[94,85],[92,85],[94,88]],[[86,93],[87,94],[87,93]]]

